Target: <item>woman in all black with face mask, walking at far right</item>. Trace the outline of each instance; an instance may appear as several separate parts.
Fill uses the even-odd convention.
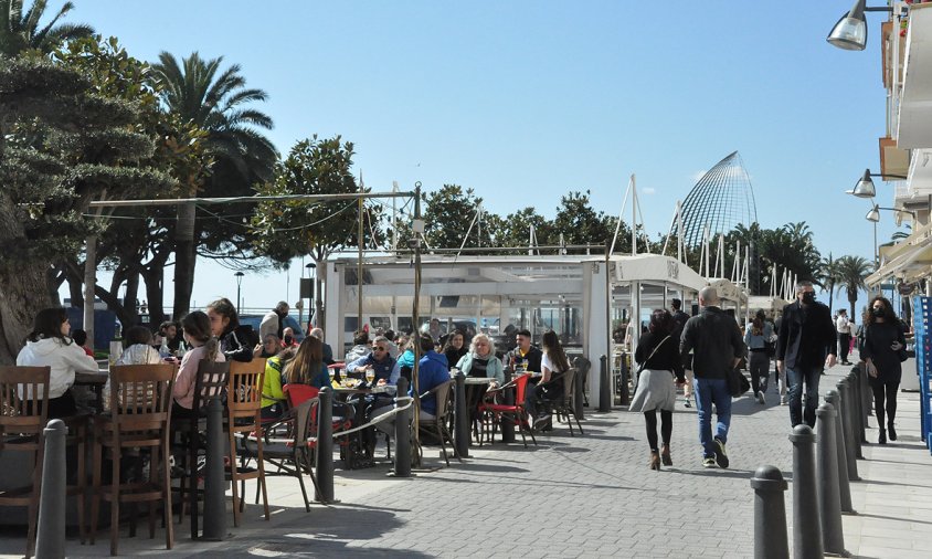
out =
[[[873,297],[867,308],[860,357],[867,363],[868,381],[873,390],[873,411],[880,431],[877,442],[887,444],[888,433],[891,441],[897,440],[893,420],[897,418],[897,392],[903,373],[900,352],[907,341],[903,326],[886,297]]]

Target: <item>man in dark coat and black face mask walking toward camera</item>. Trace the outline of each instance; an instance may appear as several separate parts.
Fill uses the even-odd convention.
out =
[[[812,282],[796,283],[796,299],[783,307],[776,341],[776,368],[786,373],[786,384],[790,387],[790,423],[795,428],[805,419],[811,428],[815,428],[818,379],[824,369],[835,365],[835,325],[828,307],[815,299]]]

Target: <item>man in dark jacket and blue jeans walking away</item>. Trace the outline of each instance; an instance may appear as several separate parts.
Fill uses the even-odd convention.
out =
[[[699,442],[702,445],[705,467],[728,467],[728,429],[731,425],[731,392],[728,373],[741,361],[746,347],[741,329],[730,315],[719,308],[714,287],[699,292],[702,310],[690,318],[682,328],[679,344],[684,361],[692,351],[696,411],[699,416]],[[712,404],[716,405],[716,434],[712,436]]]

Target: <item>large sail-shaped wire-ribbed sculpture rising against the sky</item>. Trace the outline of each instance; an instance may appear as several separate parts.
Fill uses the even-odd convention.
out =
[[[684,243],[697,246],[708,225],[711,239],[728,233],[739,223],[750,228],[758,221],[751,178],[738,151],[716,164],[689,191],[682,203]]]

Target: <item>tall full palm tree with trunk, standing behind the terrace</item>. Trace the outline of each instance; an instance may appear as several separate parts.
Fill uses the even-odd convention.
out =
[[[153,80],[161,92],[167,110],[182,122],[192,123],[206,131],[205,148],[214,165],[206,184],[192,181],[188,197],[199,190],[220,190],[223,196],[252,194],[252,184],[272,178],[278,151],[256,128],[272,129],[272,118],[247,105],[264,102],[268,95],[246,88],[246,80],[239,64],[221,72],[223,57],[204,60],[194,52],[178,63],[168,52],[159,54],[152,64]],[[193,204],[178,208],[174,266],[174,317],[188,313],[194,282],[195,209]]]

